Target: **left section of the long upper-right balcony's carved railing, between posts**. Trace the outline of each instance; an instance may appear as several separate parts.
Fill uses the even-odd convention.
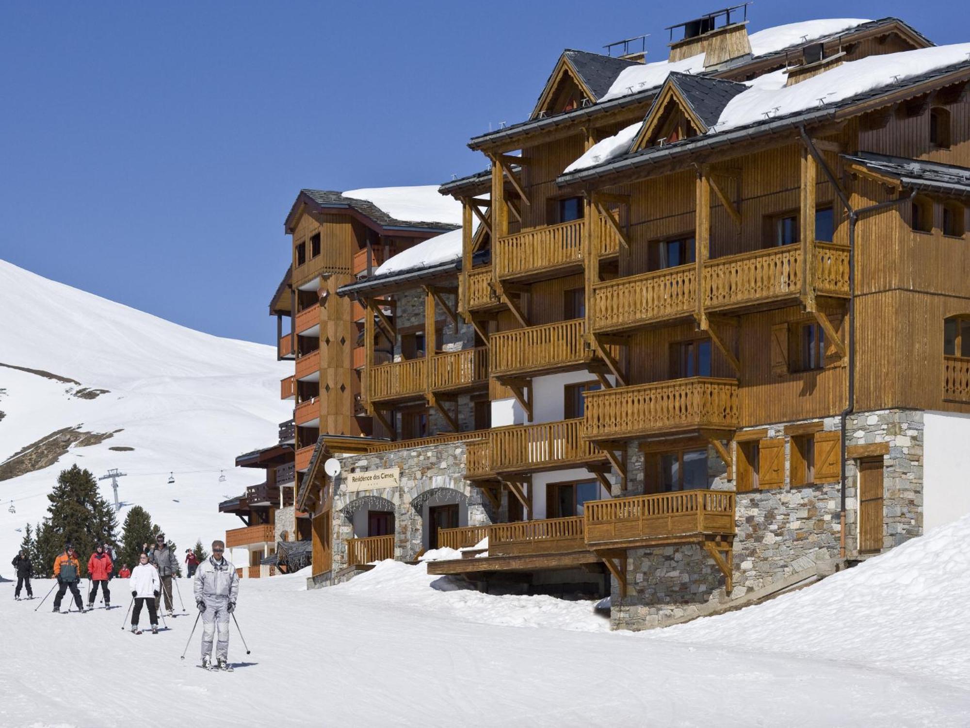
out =
[[[648,320],[689,315],[695,310],[696,296],[693,265],[602,281],[593,288],[593,330],[617,331]]]

